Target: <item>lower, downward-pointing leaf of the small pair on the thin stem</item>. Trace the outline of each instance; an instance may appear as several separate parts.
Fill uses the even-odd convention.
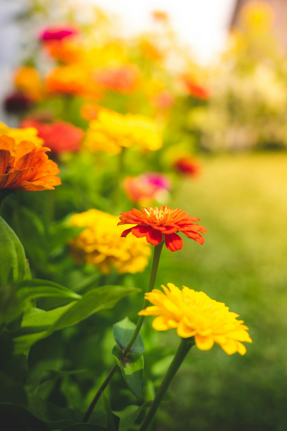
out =
[[[113,347],[112,355],[116,359],[128,387],[133,394],[140,399],[142,394],[142,373],[144,367],[142,353],[127,353],[127,355],[123,357],[123,350],[116,344]]]

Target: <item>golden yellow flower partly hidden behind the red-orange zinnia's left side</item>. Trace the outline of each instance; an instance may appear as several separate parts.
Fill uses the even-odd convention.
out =
[[[112,266],[119,274],[143,271],[151,255],[145,238],[121,238],[123,229],[117,222],[118,217],[98,209],[74,214],[71,225],[86,227],[70,241],[74,259],[97,266],[105,274]]]

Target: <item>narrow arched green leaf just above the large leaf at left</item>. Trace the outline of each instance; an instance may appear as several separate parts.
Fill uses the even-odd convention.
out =
[[[48,280],[24,280],[17,285],[17,297],[21,303],[33,298],[60,297],[79,300],[80,295],[67,287]]]

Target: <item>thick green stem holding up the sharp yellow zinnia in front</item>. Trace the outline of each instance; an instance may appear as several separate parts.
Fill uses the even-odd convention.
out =
[[[185,359],[185,356],[188,354],[191,347],[194,345],[194,342],[191,342],[191,339],[182,338],[179,347],[176,351],[176,354],[173,358],[173,362],[170,364],[169,369],[167,370],[166,375],[164,376],[163,381],[160,384],[160,387],[154,397],[154,400],[151,404],[151,408],[148,411],[148,414],[145,417],[144,422],[142,422],[142,426],[139,428],[139,431],[145,431],[148,429],[149,424],[151,423],[151,419],[154,417],[155,412],[157,411],[157,407],[160,404],[160,401],[164,397],[164,394],[167,388],[170,385],[170,382],[173,380],[176,375],[177,370],[179,369],[182,361]]]

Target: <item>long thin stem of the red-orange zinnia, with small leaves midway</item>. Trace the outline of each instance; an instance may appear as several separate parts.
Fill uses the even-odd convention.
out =
[[[158,269],[158,264],[160,261],[160,253],[161,250],[163,248],[164,245],[164,241],[161,241],[160,244],[154,246],[154,256],[152,258],[152,264],[151,264],[151,275],[149,278],[149,282],[148,282],[148,292],[151,292],[151,290],[154,288],[154,284],[155,284],[155,280],[157,278],[157,269]],[[149,305],[148,300],[145,300],[145,302],[143,303],[142,309],[145,309],[147,306]],[[139,320],[136,324],[136,328],[134,330],[133,336],[131,337],[129,343],[127,344],[127,347],[125,348],[125,350],[123,350],[123,356],[126,356],[127,353],[130,351],[131,347],[133,346],[133,343],[136,341],[136,337],[139,334],[139,331],[142,327],[143,321],[145,320],[145,316],[139,316]],[[102,395],[103,390],[105,390],[105,388],[108,386],[111,378],[113,377],[114,373],[117,370],[117,362],[114,363],[113,367],[111,368],[110,372],[108,373],[107,377],[105,378],[105,381],[101,384],[101,386],[99,387],[99,390],[97,391],[95,397],[93,398],[92,402],[90,403],[84,417],[83,417],[83,421],[82,422],[87,422],[89,420],[90,415],[93,412],[93,409],[96,406],[96,403],[98,402],[100,396]]]

